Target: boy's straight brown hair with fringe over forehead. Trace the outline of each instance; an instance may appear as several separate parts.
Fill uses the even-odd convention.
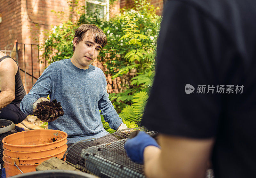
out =
[[[104,32],[93,24],[83,24],[76,29],[75,37],[77,37],[77,44],[83,41],[85,35],[88,35],[88,39],[94,40],[95,43],[101,45],[101,49],[107,44],[107,37]],[[73,40],[74,40],[73,38]],[[73,52],[75,51],[75,46],[73,45]]]

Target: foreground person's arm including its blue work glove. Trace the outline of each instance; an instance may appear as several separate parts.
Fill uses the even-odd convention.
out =
[[[144,131],[139,131],[124,144],[128,157],[144,164],[148,178],[205,177],[213,138],[191,139],[160,134],[157,139],[161,149],[156,140]]]

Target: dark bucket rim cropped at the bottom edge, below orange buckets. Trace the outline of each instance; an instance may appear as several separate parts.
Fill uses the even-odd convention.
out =
[[[34,171],[25,174],[19,174],[12,176],[12,178],[97,178],[96,176],[80,171],[68,171],[68,170],[46,170],[46,171]]]

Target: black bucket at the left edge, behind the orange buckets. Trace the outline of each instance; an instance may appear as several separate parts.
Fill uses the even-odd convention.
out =
[[[2,175],[2,170],[3,170],[3,139],[4,137],[8,136],[11,134],[11,130],[15,128],[15,124],[11,120],[5,120],[5,119],[0,119],[0,175]]]

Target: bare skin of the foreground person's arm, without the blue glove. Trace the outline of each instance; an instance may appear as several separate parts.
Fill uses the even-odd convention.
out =
[[[147,177],[205,177],[214,139],[189,139],[160,135],[161,150],[148,146],[144,150]]]

